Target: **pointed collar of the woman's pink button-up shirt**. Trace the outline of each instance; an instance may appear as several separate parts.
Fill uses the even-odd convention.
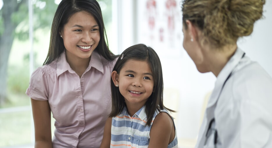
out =
[[[92,57],[89,63],[89,66],[86,69],[86,72],[91,69],[91,67],[94,67],[95,69],[99,70],[104,74],[104,69],[103,69],[103,63],[101,56],[96,52],[92,52]],[[70,73],[75,73],[74,70],[71,69],[70,65],[68,64],[66,60],[66,54],[65,51],[60,54],[60,57],[58,58],[57,61],[57,76],[61,75],[62,73],[69,71]]]

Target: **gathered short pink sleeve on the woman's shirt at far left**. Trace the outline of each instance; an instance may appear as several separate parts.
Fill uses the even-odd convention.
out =
[[[28,97],[35,100],[48,100],[49,86],[46,73],[43,71],[42,67],[37,68],[32,73],[26,94]]]

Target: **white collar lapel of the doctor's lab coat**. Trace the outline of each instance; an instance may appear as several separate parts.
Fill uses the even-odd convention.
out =
[[[235,51],[235,54],[230,58],[230,60],[227,62],[227,64],[224,66],[224,68],[221,70],[219,75],[217,76],[217,80],[214,85],[214,90],[210,96],[210,99],[207,104],[207,108],[212,107],[219,98],[219,95],[221,93],[222,87],[225,83],[225,81],[228,79],[229,75],[232,73],[232,71],[235,69],[235,67],[238,65],[239,61],[244,55],[244,51],[237,48]]]

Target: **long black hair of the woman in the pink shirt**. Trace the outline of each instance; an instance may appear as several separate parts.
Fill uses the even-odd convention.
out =
[[[96,47],[96,51],[109,61],[117,58],[117,56],[108,49],[108,39],[99,3],[96,0],[62,0],[53,18],[49,51],[43,65],[51,63],[65,50],[63,40],[59,33],[69,21],[70,17],[80,11],[90,13],[99,25],[100,41]],[[105,38],[107,40],[105,40]]]

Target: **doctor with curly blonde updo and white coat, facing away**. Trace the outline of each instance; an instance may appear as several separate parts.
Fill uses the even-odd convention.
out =
[[[253,31],[265,0],[183,0],[183,47],[214,90],[196,148],[272,147],[272,78],[237,47]]]

